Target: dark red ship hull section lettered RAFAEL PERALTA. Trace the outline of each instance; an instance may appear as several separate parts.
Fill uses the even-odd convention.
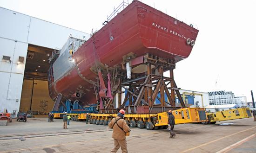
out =
[[[97,102],[92,82],[98,75],[93,67],[108,64],[113,67],[123,63],[123,56],[132,52],[136,57],[150,53],[179,62],[189,56],[192,46],[187,39],[195,40],[198,30],[164,14],[140,1],[127,6],[107,25],[89,38],[76,52],[76,67],[58,80],[49,73],[49,93],[52,98],[58,93],[81,105]],[[83,91],[81,98],[74,93]]]

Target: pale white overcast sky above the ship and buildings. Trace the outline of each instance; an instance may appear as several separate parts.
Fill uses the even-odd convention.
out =
[[[122,0],[0,0],[0,6],[82,32],[99,30]],[[129,0],[129,3],[131,0]],[[179,88],[233,91],[256,99],[256,0],[142,0],[198,28],[195,46],[176,64]]]

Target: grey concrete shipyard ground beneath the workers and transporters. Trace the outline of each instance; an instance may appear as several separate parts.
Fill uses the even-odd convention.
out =
[[[175,125],[175,139],[169,132],[131,128],[129,153],[256,153],[256,122],[252,118],[217,122],[214,125]],[[108,126],[62,120],[29,118],[26,123],[0,127],[0,153],[108,153],[113,147]],[[118,153],[121,153],[119,150]]]

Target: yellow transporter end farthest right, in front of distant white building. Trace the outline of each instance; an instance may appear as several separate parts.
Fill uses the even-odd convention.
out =
[[[227,121],[252,117],[249,108],[229,109],[215,113],[206,113],[206,115],[209,121],[203,121],[202,124],[215,124],[216,121]]]

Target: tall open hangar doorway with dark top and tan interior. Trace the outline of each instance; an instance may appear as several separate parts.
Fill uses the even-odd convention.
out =
[[[34,115],[45,115],[53,108],[47,83],[48,58],[53,49],[28,45],[20,100],[20,111],[31,110]]]

